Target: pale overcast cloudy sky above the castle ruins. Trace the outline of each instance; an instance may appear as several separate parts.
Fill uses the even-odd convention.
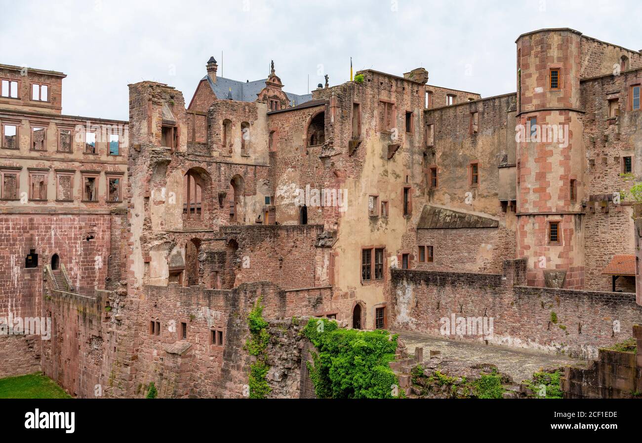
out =
[[[642,48],[642,2],[632,1],[30,1],[3,6],[0,63],[52,69],[63,81],[65,114],[128,119],[128,83],[154,80],[189,103],[205,62],[218,73],[265,78],[273,59],[288,92],[306,94],[328,74],[429,71],[429,83],[514,92],[515,40],[540,28],[574,28]],[[8,7],[10,5],[10,7]],[[221,51],[223,56],[221,58]]]

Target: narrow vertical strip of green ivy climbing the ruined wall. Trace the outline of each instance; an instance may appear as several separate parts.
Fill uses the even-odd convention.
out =
[[[266,378],[270,368],[265,362],[270,333],[268,333],[268,322],[263,319],[261,301],[263,301],[263,297],[259,297],[254,308],[247,315],[250,337],[245,342],[245,348],[250,355],[256,356],[256,362],[250,365],[250,374],[248,374],[250,398],[265,398],[271,390]]]

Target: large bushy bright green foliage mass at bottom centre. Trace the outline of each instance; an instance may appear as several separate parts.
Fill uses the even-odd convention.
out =
[[[319,398],[392,398],[397,376],[397,335],[385,330],[339,329],[329,319],[310,319],[303,333],[317,347],[309,375]]]

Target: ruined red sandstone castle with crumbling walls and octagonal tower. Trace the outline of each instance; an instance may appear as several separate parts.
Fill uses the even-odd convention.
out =
[[[60,114],[64,74],[0,66],[0,317],[53,319],[50,342],[0,352],[33,349],[78,396],[153,381],[241,397],[260,300],[274,324],[437,335],[442,314],[492,316],[489,344],[594,356],[642,321],[636,265],[620,264],[636,255],[642,54],[573,29],[516,44],[512,94],[437,87],[418,68],[297,96],[273,63],[243,82],[211,58],[189,103],[142,81],[128,122],[91,124]],[[42,85],[49,101],[30,100]],[[92,144],[108,125],[126,139]],[[275,396],[309,390],[297,358],[272,362]]]

